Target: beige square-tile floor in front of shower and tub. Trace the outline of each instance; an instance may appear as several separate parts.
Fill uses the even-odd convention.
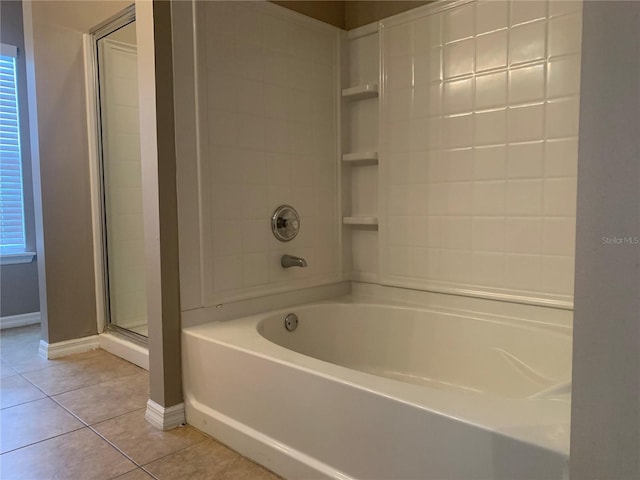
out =
[[[39,326],[0,331],[2,480],[276,480],[185,425],[144,419],[148,373],[103,350],[45,360]]]

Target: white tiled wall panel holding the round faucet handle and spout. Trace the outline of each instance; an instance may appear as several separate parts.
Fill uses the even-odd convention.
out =
[[[340,30],[268,2],[197,8],[203,304],[339,280]],[[301,217],[288,243],[271,233],[280,204]]]

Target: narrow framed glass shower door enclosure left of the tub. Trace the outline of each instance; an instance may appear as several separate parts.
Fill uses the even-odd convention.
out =
[[[105,330],[146,342],[134,6],[92,31]]]

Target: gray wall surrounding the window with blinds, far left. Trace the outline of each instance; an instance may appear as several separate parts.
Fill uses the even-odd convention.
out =
[[[20,107],[20,135],[22,138],[25,233],[27,250],[35,252],[22,2],[15,0],[0,2],[0,42],[18,47],[18,105]],[[38,310],[40,310],[40,304],[36,262],[0,266],[0,317],[37,312]]]

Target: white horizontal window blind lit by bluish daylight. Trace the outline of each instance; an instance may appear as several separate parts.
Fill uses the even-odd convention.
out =
[[[15,47],[0,49],[0,254],[25,251]]]

